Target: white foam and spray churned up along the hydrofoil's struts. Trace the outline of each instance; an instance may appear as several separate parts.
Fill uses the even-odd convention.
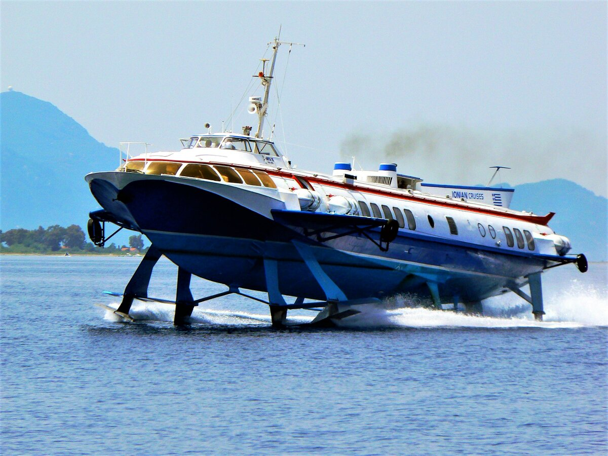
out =
[[[484,315],[439,311],[422,306],[411,297],[403,297],[385,306],[359,305],[360,314],[337,322],[347,328],[579,328],[582,326],[608,326],[608,297],[596,288],[571,282],[567,289],[551,291],[545,296],[545,316],[542,322],[534,320],[531,306],[514,294],[497,296],[483,302]],[[114,314],[118,303],[106,309],[105,319],[123,321]],[[136,322],[172,322],[174,306],[163,303],[134,302],[130,315]],[[311,316],[288,317],[290,323],[306,323]],[[269,313],[250,313],[202,309],[196,307],[192,323],[209,325],[262,325],[271,323]]]

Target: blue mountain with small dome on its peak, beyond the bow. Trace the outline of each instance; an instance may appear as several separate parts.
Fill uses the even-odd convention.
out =
[[[93,139],[54,105],[2,92],[0,229],[53,224],[86,227],[98,207],[85,182],[118,164],[118,150]]]

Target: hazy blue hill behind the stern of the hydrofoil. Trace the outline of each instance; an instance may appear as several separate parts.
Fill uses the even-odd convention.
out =
[[[566,179],[516,185],[511,208],[545,215],[549,226],[572,242],[573,253],[608,261],[608,199]]]

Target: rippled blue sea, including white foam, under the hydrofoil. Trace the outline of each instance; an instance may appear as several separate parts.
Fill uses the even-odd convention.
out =
[[[2,454],[608,453],[606,263],[547,271],[544,322],[514,294],[485,317],[402,297],[272,330],[238,295],[188,328],[157,303],[116,320],[102,292],[139,261],[0,257]],[[173,298],[176,275],[159,261],[150,295]],[[193,279],[195,298],[224,289]]]

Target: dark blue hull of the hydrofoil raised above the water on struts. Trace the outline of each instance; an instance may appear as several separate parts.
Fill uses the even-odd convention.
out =
[[[422,238],[408,230],[399,231],[387,252],[361,233],[319,241],[302,227],[272,218],[272,209],[285,209],[276,196],[215,182],[100,174],[88,180],[104,209],[145,234],[181,268],[228,286],[268,291],[264,260],[271,259],[277,262],[282,294],[326,299],[297,243],[308,246],[348,299],[401,293],[424,299],[433,283],[443,302],[478,302],[520,288],[527,275],[546,265],[541,259]],[[379,229],[369,234],[378,238]]]

